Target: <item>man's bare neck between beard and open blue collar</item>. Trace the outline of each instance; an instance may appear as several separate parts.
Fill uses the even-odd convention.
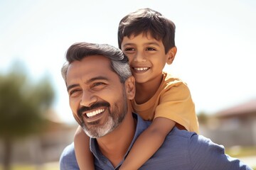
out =
[[[116,167],[127,153],[135,133],[135,123],[131,112],[128,112],[122,123],[110,134],[97,139],[97,144],[107,159]]]

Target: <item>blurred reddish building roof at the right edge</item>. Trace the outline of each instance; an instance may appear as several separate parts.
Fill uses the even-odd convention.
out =
[[[228,117],[233,115],[246,115],[251,113],[256,113],[256,98],[251,101],[242,103],[238,106],[233,106],[231,108],[220,111],[215,115],[217,117]]]

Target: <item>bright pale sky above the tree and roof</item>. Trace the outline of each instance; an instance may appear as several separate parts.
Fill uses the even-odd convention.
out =
[[[118,47],[119,21],[139,8],[176,24],[178,51],[164,70],[186,81],[197,113],[256,98],[255,0],[0,0],[0,72],[19,61],[34,80],[47,74],[56,95],[53,108],[73,123],[60,74],[66,50],[75,42]]]

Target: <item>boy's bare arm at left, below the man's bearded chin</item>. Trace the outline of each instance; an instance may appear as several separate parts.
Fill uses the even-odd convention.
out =
[[[93,170],[94,161],[92,152],[90,152],[90,137],[88,137],[80,126],[75,132],[74,138],[75,157],[80,170]]]

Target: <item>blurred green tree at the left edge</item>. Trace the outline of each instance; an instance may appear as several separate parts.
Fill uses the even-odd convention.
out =
[[[32,83],[24,69],[14,67],[0,74],[0,137],[4,142],[4,169],[11,167],[11,149],[17,137],[39,132],[45,125],[43,113],[50,108],[54,93],[47,77]]]

